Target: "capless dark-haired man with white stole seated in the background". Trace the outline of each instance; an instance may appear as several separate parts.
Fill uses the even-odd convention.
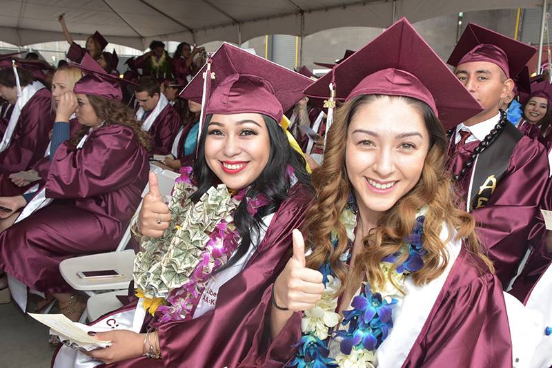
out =
[[[168,155],[172,143],[182,125],[182,119],[167,98],[161,93],[156,79],[142,77],[135,88],[139,109],[136,119],[142,123],[142,129],[150,133],[152,138],[152,153]]]

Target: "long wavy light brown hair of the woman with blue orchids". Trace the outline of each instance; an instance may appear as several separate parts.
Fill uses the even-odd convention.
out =
[[[430,146],[420,181],[404,195],[377,222],[362,239],[362,250],[355,258],[355,267],[349,274],[348,267],[339,260],[347,247],[347,235],[339,216],[346,208],[348,195],[353,188],[348,180],[345,166],[345,151],[348,126],[361,106],[370,104],[377,98],[402,99],[420,111],[430,135]],[[457,209],[453,199],[451,177],[446,170],[446,134],[435,114],[422,101],[409,97],[388,97],[383,95],[359,96],[347,101],[336,111],[335,122],[328,131],[324,162],[312,175],[313,186],[317,192],[314,204],[306,215],[304,231],[313,253],[306,260],[307,267],[319,269],[326,261],[331,262],[335,274],[342,282],[339,294],[347,284],[359,285],[365,278],[375,287],[384,285],[384,272],[380,267],[382,258],[404,250],[406,238],[415,226],[415,213],[426,206],[424,234],[422,241],[426,255],[424,267],[412,273],[415,284],[421,285],[437,278],[449,262],[446,243],[440,233],[443,226],[457,231],[457,237],[466,240],[466,247],[471,253],[481,258],[489,269],[493,270],[491,261],[480,250],[480,243],[474,233],[475,221],[464,211]],[[335,230],[338,244],[334,249],[330,242],[331,231]],[[400,264],[408,257],[402,252],[397,259]],[[395,269],[395,264],[391,270]]]

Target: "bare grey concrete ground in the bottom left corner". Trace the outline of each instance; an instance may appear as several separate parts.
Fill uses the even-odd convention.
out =
[[[48,327],[26,316],[13,301],[0,304],[0,331],[0,367],[50,367],[55,348],[48,343]]]

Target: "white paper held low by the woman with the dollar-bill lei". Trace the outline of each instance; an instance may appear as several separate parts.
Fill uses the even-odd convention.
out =
[[[72,322],[72,320],[63,316],[63,314],[28,313],[28,315],[41,322],[43,325],[50,327],[50,335],[59,336],[59,340],[68,343],[68,345],[72,347],[91,351],[111,345],[110,341],[97,340],[88,335],[88,331],[110,331],[110,329]]]

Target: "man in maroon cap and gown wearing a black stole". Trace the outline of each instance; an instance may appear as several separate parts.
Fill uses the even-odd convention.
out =
[[[549,168],[546,151],[499,110],[535,49],[469,23],[449,61],[484,110],[449,130],[449,167],[462,209],[479,224],[480,240],[506,288],[528,249]]]

